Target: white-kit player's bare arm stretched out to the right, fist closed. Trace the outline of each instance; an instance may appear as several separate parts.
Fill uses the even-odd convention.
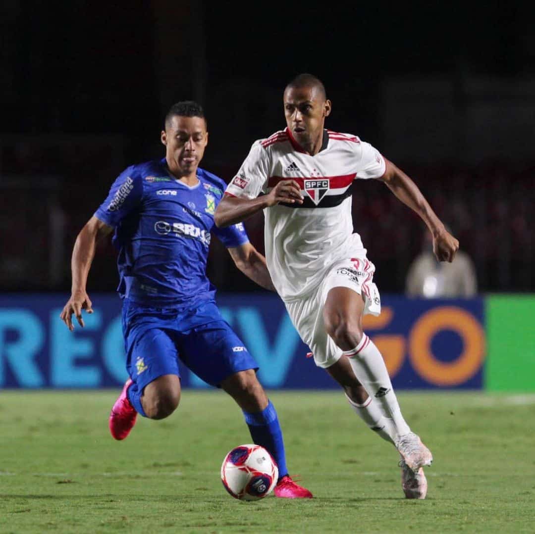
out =
[[[444,228],[417,185],[391,161],[385,158],[386,171],[380,178],[401,202],[415,211],[433,236],[433,252],[438,261],[452,262],[459,242]]]

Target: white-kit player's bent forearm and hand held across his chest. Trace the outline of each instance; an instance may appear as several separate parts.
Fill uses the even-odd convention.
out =
[[[253,199],[238,198],[225,193],[216,208],[214,220],[218,228],[235,225],[249,218],[251,215],[271,207],[279,202],[287,204],[303,204],[301,187],[295,180],[279,182],[267,195]]]

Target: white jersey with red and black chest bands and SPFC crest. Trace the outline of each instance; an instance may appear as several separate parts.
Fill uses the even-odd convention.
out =
[[[355,135],[324,130],[322,149],[310,156],[291,131],[277,131],[253,143],[227,194],[256,198],[281,180],[301,185],[302,205],[266,208],[265,252],[277,292],[284,300],[302,298],[337,261],[366,250],[353,233],[351,192],[356,179],[385,173],[383,156]]]

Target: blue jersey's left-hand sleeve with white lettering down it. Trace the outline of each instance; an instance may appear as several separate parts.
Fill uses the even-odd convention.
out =
[[[95,212],[95,217],[106,225],[116,227],[141,202],[143,181],[135,166],[128,167],[113,182],[104,202]]]

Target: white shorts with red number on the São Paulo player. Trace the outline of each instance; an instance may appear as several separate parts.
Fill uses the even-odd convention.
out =
[[[373,283],[374,272],[375,266],[365,256],[338,261],[316,290],[302,299],[285,302],[290,319],[303,342],[310,347],[318,367],[331,367],[342,355],[342,349],[325,331],[323,306],[327,293],[338,287],[352,289],[364,298],[364,314],[377,316],[381,313],[381,300]]]

